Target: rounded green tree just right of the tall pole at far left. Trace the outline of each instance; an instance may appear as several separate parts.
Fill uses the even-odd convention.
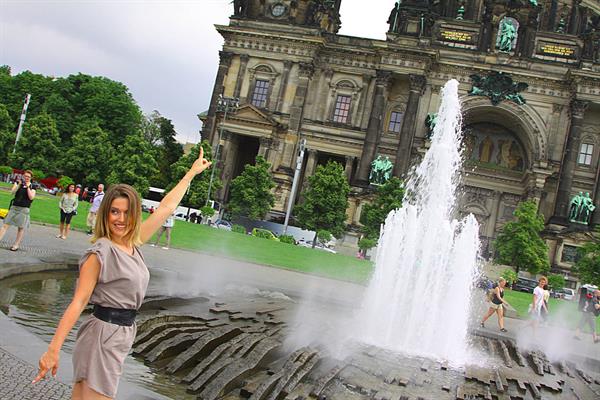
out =
[[[16,151],[9,156],[11,165],[17,168],[39,169],[46,174],[56,171],[60,155],[60,141],[56,123],[46,113],[33,117],[25,124]]]

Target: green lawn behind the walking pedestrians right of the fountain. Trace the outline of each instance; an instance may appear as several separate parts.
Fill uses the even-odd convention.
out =
[[[533,300],[533,294],[506,290],[504,300],[517,310],[521,318],[528,318],[527,310]],[[548,302],[548,311],[551,323],[566,325],[575,328],[581,314],[577,311],[577,302],[551,298]],[[596,332],[600,332],[600,318],[596,318]]]

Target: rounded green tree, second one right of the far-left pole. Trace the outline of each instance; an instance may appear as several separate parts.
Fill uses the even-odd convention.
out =
[[[114,153],[107,132],[98,125],[82,128],[73,135],[72,144],[66,152],[64,172],[86,186],[103,182],[111,170]],[[125,159],[129,154],[122,156]]]

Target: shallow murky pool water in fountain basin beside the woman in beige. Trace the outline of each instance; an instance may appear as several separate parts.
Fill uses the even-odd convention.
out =
[[[76,272],[25,274],[0,281],[0,310],[12,320],[49,343],[58,321],[73,297]],[[62,350],[71,354],[77,329],[87,318],[83,314],[65,340]],[[173,377],[128,356],[123,368],[125,379],[164,396],[194,399]]]

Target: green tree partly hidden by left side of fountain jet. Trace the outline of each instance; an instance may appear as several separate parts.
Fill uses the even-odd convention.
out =
[[[362,232],[368,239],[379,240],[379,229],[385,222],[390,211],[402,207],[404,198],[404,185],[396,177],[390,178],[386,183],[377,188],[373,203],[366,204],[360,216],[363,224]]]

